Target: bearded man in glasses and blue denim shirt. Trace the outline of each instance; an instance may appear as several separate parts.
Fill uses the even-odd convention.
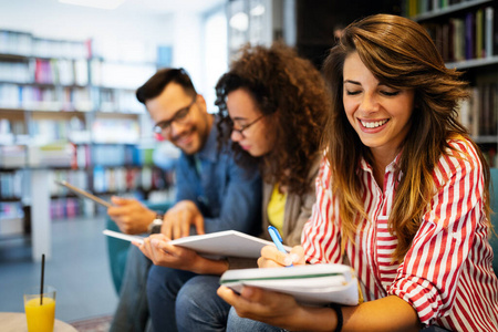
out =
[[[180,148],[176,204],[164,216],[136,199],[113,197],[108,216],[126,234],[160,231],[170,239],[228,229],[257,235],[261,227],[261,179],[255,167],[236,165],[231,148],[218,146],[217,118],[207,112],[183,69],[163,69],[136,92],[155,123],[154,132]],[[128,250],[120,302],[110,331],[145,331],[147,273],[152,266],[137,248]],[[196,276],[164,269],[174,292]],[[172,303],[173,305],[175,303]],[[174,307],[173,309],[174,310]]]

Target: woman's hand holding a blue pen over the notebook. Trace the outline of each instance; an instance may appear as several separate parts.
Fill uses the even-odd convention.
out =
[[[274,246],[264,246],[261,249],[261,257],[258,259],[258,267],[260,268],[282,268],[305,263],[304,249],[301,246],[293,247],[289,253],[283,253]]]

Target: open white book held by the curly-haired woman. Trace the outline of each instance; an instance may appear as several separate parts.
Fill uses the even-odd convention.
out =
[[[128,236],[122,232],[104,230],[103,234],[116,237],[123,240],[143,242],[144,238],[139,236]],[[189,248],[196,252],[210,258],[220,257],[242,257],[258,258],[261,255],[261,248],[273,242],[249,236],[237,230],[224,230],[206,235],[194,235],[169,241],[170,245]],[[290,250],[290,247],[286,247]]]

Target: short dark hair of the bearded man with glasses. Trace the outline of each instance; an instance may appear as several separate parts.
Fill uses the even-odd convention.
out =
[[[190,76],[183,68],[165,68],[158,70],[144,85],[136,90],[136,98],[145,104],[146,101],[158,96],[169,83],[179,84],[188,95],[196,95],[196,89]]]

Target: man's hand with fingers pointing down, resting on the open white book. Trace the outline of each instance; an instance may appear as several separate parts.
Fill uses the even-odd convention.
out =
[[[168,239],[178,239],[190,235],[190,226],[195,226],[198,235],[205,234],[204,217],[197,206],[190,200],[181,200],[164,216],[160,232]]]

